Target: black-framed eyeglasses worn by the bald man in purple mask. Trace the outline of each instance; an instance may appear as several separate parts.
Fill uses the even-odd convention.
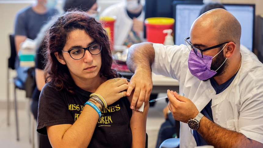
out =
[[[218,47],[224,45],[225,43],[229,43],[229,42],[224,42],[224,43],[221,43],[221,44],[209,47],[207,49],[200,49],[200,48],[198,48],[196,46],[193,46],[190,42],[188,42],[187,40],[189,40],[189,39],[190,39],[190,37],[185,38],[187,48],[190,51],[193,49],[193,51],[195,52],[196,56],[198,56],[200,58],[203,58],[203,51],[207,51],[207,50],[210,50],[210,49],[218,48]]]

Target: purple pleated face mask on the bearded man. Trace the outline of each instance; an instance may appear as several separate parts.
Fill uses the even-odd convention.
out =
[[[217,56],[225,48],[225,46],[215,56]],[[201,53],[197,52],[197,54],[201,54]],[[203,58],[200,58],[196,56],[193,50],[191,50],[188,58],[188,68],[191,74],[193,74],[196,78],[200,80],[207,80],[213,77],[217,73],[216,71],[225,63],[227,59],[226,58],[225,61],[221,64],[221,66],[214,71],[210,69],[214,57],[203,55]]]

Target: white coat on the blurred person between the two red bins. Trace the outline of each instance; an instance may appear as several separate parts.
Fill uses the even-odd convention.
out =
[[[114,45],[123,45],[124,40],[127,38],[128,33],[132,29],[133,20],[128,16],[124,2],[120,2],[107,7],[100,16],[117,16],[114,23]],[[144,11],[137,19],[144,21]],[[143,31],[139,33],[141,41],[145,41],[143,38]]]

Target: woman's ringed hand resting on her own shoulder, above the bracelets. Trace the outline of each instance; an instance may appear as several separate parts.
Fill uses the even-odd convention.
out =
[[[120,98],[127,96],[128,80],[125,78],[113,78],[102,83],[94,93],[102,96],[107,105],[110,105]]]

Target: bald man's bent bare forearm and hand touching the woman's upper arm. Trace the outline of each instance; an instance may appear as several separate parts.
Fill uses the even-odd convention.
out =
[[[134,90],[131,109],[138,110],[143,101],[144,105],[149,104],[153,88],[151,65],[154,55],[153,43],[150,42],[133,44],[128,50],[126,64],[134,73],[127,89],[127,96],[130,96]]]

